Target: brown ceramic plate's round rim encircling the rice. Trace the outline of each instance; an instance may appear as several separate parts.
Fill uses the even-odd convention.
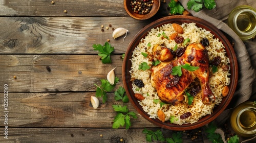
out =
[[[183,124],[183,125],[176,125],[176,124],[170,124],[169,122],[164,122],[162,123],[160,120],[157,118],[150,118],[150,115],[148,115],[146,112],[143,111],[142,107],[139,105],[137,99],[134,97],[134,92],[132,90],[132,82],[131,82],[131,75],[129,71],[131,70],[131,60],[132,59],[132,54],[135,49],[135,47],[138,45],[140,40],[144,38],[147,35],[147,32],[150,31],[153,28],[160,27],[166,23],[189,23],[189,22],[194,22],[196,23],[197,27],[201,27],[206,29],[207,31],[210,31],[212,34],[215,35],[214,38],[219,38],[220,41],[225,46],[226,49],[226,55],[230,59],[230,84],[229,84],[229,93],[226,97],[223,98],[222,102],[220,105],[216,106],[214,108],[214,112],[210,115],[206,115],[200,120],[194,124]],[[130,102],[133,104],[134,108],[144,117],[146,120],[150,121],[151,123],[165,129],[169,130],[191,130],[191,129],[196,129],[199,127],[202,127],[209,122],[215,120],[216,117],[218,117],[222,111],[225,110],[225,108],[228,106],[229,102],[232,99],[233,93],[236,90],[237,86],[237,80],[238,80],[238,64],[237,64],[237,58],[236,55],[233,51],[233,47],[228,41],[228,39],[225,37],[225,35],[217,29],[214,25],[211,23],[197,18],[193,16],[184,16],[184,15],[175,15],[175,16],[168,16],[164,17],[161,19],[158,19],[146,27],[144,27],[141,31],[138,32],[138,34],[134,37],[134,39],[131,41],[129,44],[129,47],[127,48],[127,51],[125,53],[123,65],[122,65],[122,80],[124,84],[125,91],[130,99]]]

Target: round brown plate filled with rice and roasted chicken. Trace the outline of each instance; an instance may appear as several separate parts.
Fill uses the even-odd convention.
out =
[[[213,36],[207,38],[201,37],[200,42],[191,42],[190,40],[189,42],[191,43],[184,44],[184,42],[188,40],[183,36],[189,32],[186,31],[185,28],[188,29],[188,25],[191,24],[195,24],[198,29],[204,29],[203,31],[207,31],[207,33],[209,32]],[[182,26],[184,26],[184,28],[182,28]],[[196,28],[193,27],[193,29]],[[172,30],[174,31],[170,32]],[[193,35],[193,33],[191,34],[191,37],[194,36],[193,38],[195,38],[198,34]],[[184,38],[182,39],[182,43],[179,42],[181,37]],[[203,48],[203,46],[205,48],[206,46],[214,47],[216,43],[213,43],[212,41],[217,40],[218,43],[221,42],[223,44],[222,50],[219,50],[219,54],[225,51],[225,56],[223,55],[221,58],[228,58],[228,63],[221,61],[221,59],[219,59],[220,56],[211,55],[211,58],[207,56],[208,52],[216,52],[215,49],[205,50]],[[169,45],[168,42],[173,42],[174,44]],[[177,46],[178,42],[180,43],[180,46],[187,45],[186,50],[191,53],[198,51],[199,47],[202,47],[201,55],[204,56],[202,56],[201,59],[198,58],[196,61],[200,63],[207,62],[208,64],[205,69],[202,69],[203,66],[199,65],[199,70],[196,69],[195,72],[203,71],[204,73],[211,73],[209,75],[201,75],[205,75],[206,80],[211,79],[211,81],[209,80],[209,88],[207,89],[214,91],[213,94],[210,93],[212,92],[210,90],[208,90],[209,92],[205,92],[206,88],[203,89],[202,87],[206,84],[197,81],[203,79],[203,76],[197,77],[191,83],[189,82],[188,84],[191,88],[188,86],[185,87],[187,84],[182,85],[182,82],[185,81],[182,79],[182,76],[185,76],[182,75],[182,70],[185,71],[185,66],[175,66],[175,64],[173,64],[177,62],[177,59],[179,60],[180,52],[183,51],[182,47]],[[198,49],[191,50],[193,49],[191,48],[192,46],[195,46]],[[169,49],[167,47],[169,47]],[[157,51],[158,49],[159,51]],[[176,50],[172,51],[172,49]],[[184,53],[187,52],[183,51],[181,58],[186,58],[186,61],[194,60],[194,58],[197,58],[200,55],[200,53],[197,53],[197,56],[192,56],[193,58],[191,58],[191,53],[185,55]],[[166,58],[170,58],[170,61],[164,63]],[[193,65],[188,64],[187,66],[194,68]],[[181,71],[180,77],[178,75],[179,71],[175,69],[176,67],[180,67],[178,69]],[[218,71],[215,68],[217,68]],[[190,69],[187,68],[186,70]],[[221,84],[219,80],[222,79],[222,81],[225,82],[226,78],[223,79],[217,75],[222,75],[227,72],[229,74],[224,77],[228,77],[228,82]],[[237,57],[227,37],[211,23],[194,16],[186,15],[163,17],[142,28],[134,36],[127,47],[122,63],[123,87],[136,111],[154,125],[176,131],[196,129],[214,121],[226,109],[229,103],[231,103],[238,82],[238,73]],[[188,78],[185,77],[184,79]],[[215,83],[216,81],[218,83],[212,85],[212,83]],[[186,89],[183,88],[184,90],[178,90],[180,87],[185,87]],[[164,98],[170,98],[170,96],[173,95],[168,94],[168,92],[174,93],[177,96],[180,93],[179,91],[184,91],[182,94],[185,99],[181,99],[181,102],[179,103],[175,103],[179,100],[178,98],[173,98],[170,102],[166,102]],[[205,96],[203,97],[202,95]],[[189,103],[189,100],[192,102]],[[208,102],[210,100],[212,102]],[[217,102],[218,104],[216,104]],[[207,109],[198,110],[201,107],[207,107]],[[205,114],[202,114],[204,111]],[[196,119],[197,121],[190,122],[193,117],[195,118],[199,114],[200,117]],[[183,122],[183,124],[180,124],[181,122]]]

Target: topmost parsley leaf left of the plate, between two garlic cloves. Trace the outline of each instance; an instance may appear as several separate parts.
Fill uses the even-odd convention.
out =
[[[110,55],[114,51],[114,47],[109,42],[105,42],[104,45],[93,44],[93,48],[95,51],[98,51],[102,63],[112,63]]]

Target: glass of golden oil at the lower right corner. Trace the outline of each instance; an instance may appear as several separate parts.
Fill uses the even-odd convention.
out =
[[[234,132],[244,137],[256,135],[256,105],[244,102],[232,111],[230,124]]]

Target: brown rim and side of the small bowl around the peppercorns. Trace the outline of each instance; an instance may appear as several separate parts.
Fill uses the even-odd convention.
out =
[[[124,9],[127,12],[127,14],[129,14],[131,17],[133,17],[135,19],[139,19],[139,20],[145,20],[145,19],[148,19],[148,18],[151,18],[152,16],[154,16],[160,8],[160,3],[161,3],[160,0],[154,0],[154,4],[153,4],[150,12],[148,12],[147,14],[138,14],[132,10],[132,8],[130,6],[131,0],[123,1]]]

